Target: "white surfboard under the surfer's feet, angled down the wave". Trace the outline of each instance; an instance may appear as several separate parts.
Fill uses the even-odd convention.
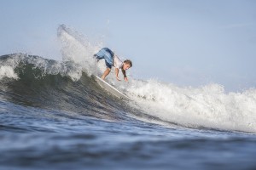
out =
[[[131,100],[128,96],[126,96],[125,94],[121,93],[118,89],[113,88],[113,86],[111,86],[108,82],[105,82],[104,80],[102,80],[101,77],[97,77],[95,75],[92,75],[92,77],[94,77],[94,79],[96,80],[96,82],[105,90],[107,90],[110,94],[113,94],[114,96],[118,97],[119,99],[127,99],[127,100]]]

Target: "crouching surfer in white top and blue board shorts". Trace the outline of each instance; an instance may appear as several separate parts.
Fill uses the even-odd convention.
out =
[[[109,72],[111,71],[112,66],[115,67],[114,73],[115,77],[118,81],[121,81],[119,79],[119,69],[121,69],[125,82],[128,82],[128,78],[126,76],[126,72],[128,69],[131,68],[132,62],[130,59],[125,59],[124,62],[122,62],[119,57],[113,53],[112,50],[109,48],[102,48],[97,54],[94,54],[94,57],[96,57],[97,60],[99,59],[105,59],[105,64],[107,66],[106,71],[104,71],[102,75],[102,79],[105,80],[105,78],[108,76]]]

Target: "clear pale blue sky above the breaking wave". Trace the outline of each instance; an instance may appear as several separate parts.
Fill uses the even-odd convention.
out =
[[[64,24],[131,59],[133,77],[241,92],[256,87],[255,8],[254,0],[0,0],[0,55],[61,60]]]

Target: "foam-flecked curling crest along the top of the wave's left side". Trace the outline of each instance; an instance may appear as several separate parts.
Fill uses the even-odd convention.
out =
[[[34,74],[37,77],[45,75],[58,75],[62,77],[70,77],[73,81],[78,81],[82,76],[83,68],[79,64],[73,62],[61,62],[53,59],[44,59],[36,55],[29,54],[9,54],[0,57],[0,77],[19,78],[24,71],[30,72],[26,74]],[[40,73],[40,74],[39,74]]]

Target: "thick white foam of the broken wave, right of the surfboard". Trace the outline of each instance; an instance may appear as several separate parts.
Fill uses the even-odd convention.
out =
[[[180,88],[155,80],[134,80],[127,89],[147,114],[186,127],[256,132],[256,90],[224,93],[224,87]]]

